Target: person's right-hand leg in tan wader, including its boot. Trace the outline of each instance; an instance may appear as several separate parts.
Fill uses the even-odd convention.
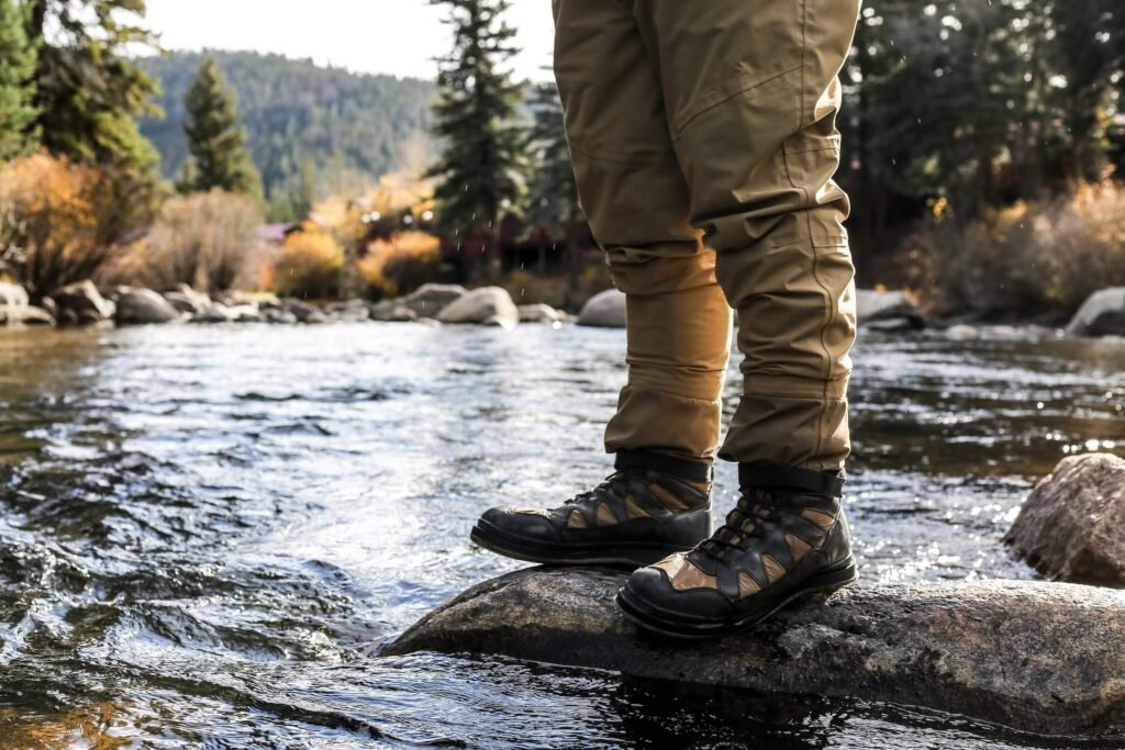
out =
[[[742,499],[688,555],[634,573],[642,624],[721,632],[854,578],[840,509],[855,338],[837,78],[860,0],[636,0],[691,220],[737,310],[744,395],[720,457]]]

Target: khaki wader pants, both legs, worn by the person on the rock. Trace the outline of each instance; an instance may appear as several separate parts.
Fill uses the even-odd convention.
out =
[[[854,269],[837,74],[860,0],[554,0],[583,206],[628,296],[606,450],[837,470],[849,452]]]

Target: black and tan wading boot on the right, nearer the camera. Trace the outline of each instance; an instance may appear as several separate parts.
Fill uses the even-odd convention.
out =
[[[855,580],[843,473],[744,464],[739,480],[742,497],[710,539],[629,577],[618,605],[630,620],[668,635],[722,635]]]

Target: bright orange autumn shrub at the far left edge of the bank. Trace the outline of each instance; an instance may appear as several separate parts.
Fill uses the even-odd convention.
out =
[[[0,266],[33,298],[98,273],[127,223],[111,172],[46,153],[0,165]]]

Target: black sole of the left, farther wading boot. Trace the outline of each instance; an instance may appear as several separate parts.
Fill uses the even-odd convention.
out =
[[[659,562],[673,552],[687,552],[688,546],[672,544],[550,544],[549,542],[529,542],[512,536],[494,525],[478,521],[469,533],[469,539],[496,554],[505,558],[538,562],[546,566],[613,566],[623,568],[644,568]]]

